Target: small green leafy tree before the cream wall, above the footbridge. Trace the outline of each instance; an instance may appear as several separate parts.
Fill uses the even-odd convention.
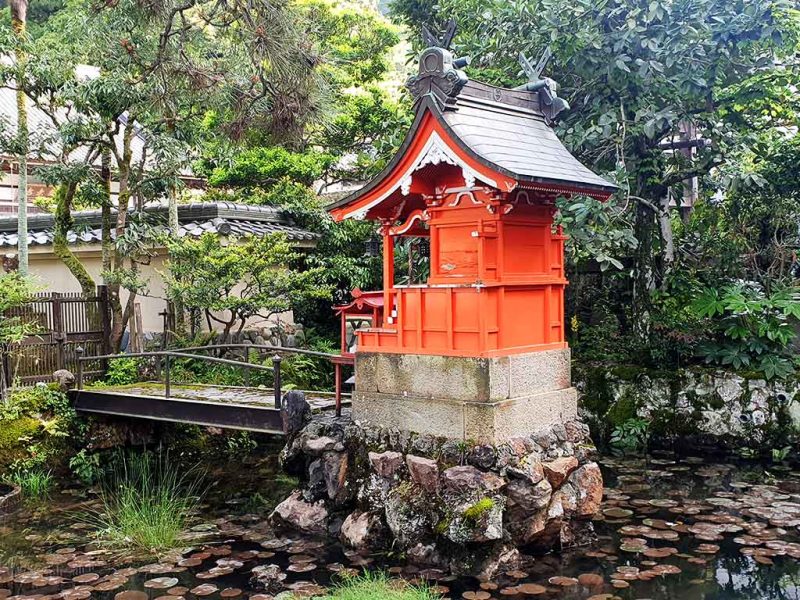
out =
[[[218,236],[167,242],[167,293],[186,308],[203,311],[227,335],[247,319],[267,319],[312,299],[330,297],[318,268],[299,270],[300,256],[283,234],[248,237],[241,243]],[[219,317],[215,313],[222,313]]]

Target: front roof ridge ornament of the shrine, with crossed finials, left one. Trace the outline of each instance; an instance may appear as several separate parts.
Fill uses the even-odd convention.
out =
[[[430,29],[422,26],[422,40],[427,46],[419,55],[419,73],[406,82],[415,101],[430,95],[443,110],[453,110],[456,98],[469,81],[462,71],[469,57],[455,58],[450,44],[456,34],[454,19],[447,21],[447,28],[441,38]]]

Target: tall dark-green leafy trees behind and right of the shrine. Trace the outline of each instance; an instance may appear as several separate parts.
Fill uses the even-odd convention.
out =
[[[470,75],[494,83],[521,81],[513,76],[520,52],[538,58],[552,48],[545,75],[558,81],[571,105],[559,136],[622,187],[604,206],[580,199],[561,204],[575,266],[584,273],[592,265],[604,269],[588,285],[571,277],[579,349],[581,339],[596,349],[610,338],[617,349],[628,347],[658,365],[691,360],[708,340],[686,327],[687,306],[704,289],[730,289],[741,278],[765,297],[787,287],[796,295],[790,271],[797,199],[762,175],[779,168],[797,131],[792,82],[800,80],[800,20],[792,3],[397,0],[393,6],[415,28],[436,29],[440,19],[455,18],[456,51],[472,57]],[[698,139],[705,142],[681,147]],[[692,178],[699,183],[694,207],[678,209]],[[598,305],[598,297],[606,301]]]

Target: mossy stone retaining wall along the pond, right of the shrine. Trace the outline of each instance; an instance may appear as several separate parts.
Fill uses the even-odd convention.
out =
[[[651,444],[660,447],[688,448],[699,440],[704,449],[782,448],[800,437],[796,379],[603,364],[579,365],[573,373],[581,416],[600,443],[632,419],[646,420]]]

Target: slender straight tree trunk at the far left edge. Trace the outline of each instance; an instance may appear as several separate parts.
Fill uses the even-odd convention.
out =
[[[27,0],[11,0],[11,26],[17,37],[15,50],[17,86],[17,138],[19,144],[19,179],[17,181],[17,258],[19,272],[28,274],[28,105],[23,85],[25,81],[25,23],[28,15]]]

